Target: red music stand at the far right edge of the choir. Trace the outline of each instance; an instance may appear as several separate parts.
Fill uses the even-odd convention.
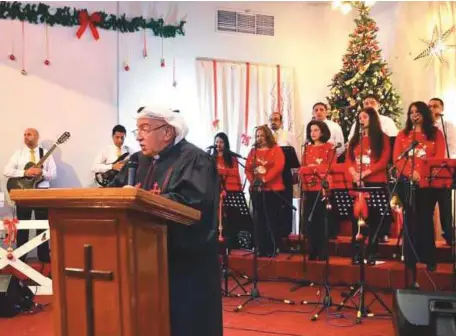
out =
[[[456,159],[424,159],[421,165],[420,188],[456,189]],[[453,198],[453,208],[456,209],[456,199]],[[455,216],[452,216],[451,226],[451,261],[453,263],[453,291],[456,290],[456,244]]]

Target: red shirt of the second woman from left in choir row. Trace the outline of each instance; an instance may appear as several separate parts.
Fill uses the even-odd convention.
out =
[[[256,159],[254,164],[253,159]],[[245,174],[250,184],[254,181],[253,168],[264,182],[264,190],[284,190],[282,172],[285,166],[285,155],[275,145],[272,148],[252,149],[245,164]]]

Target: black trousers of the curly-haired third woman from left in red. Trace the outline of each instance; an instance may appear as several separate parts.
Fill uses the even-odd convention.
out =
[[[326,257],[325,241],[329,237],[325,235],[325,212],[326,204],[322,201],[322,197],[318,197],[317,191],[308,191],[303,193],[305,197],[303,216],[301,223],[304,225],[304,233],[307,237],[307,246],[310,259]],[[317,200],[318,197],[318,200]],[[315,201],[317,200],[317,203]],[[315,204],[315,211],[312,215],[312,221],[309,221],[309,215]],[[328,235],[331,226],[331,213],[328,213]]]

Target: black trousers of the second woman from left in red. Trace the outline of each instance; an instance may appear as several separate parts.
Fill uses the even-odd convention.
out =
[[[280,196],[282,191],[252,192],[253,204],[253,239],[258,242],[260,255],[275,255],[281,239],[280,223]],[[257,236],[255,236],[257,234]]]

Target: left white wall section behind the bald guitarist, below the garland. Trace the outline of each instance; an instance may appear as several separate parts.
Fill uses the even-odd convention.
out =
[[[116,12],[116,3],[78,2],[75,7]],[[62,6],[62,3],[56,4]],[[78,40],[76,28],[49,28],[51,66],[45,67],[43,25],[25,24],[25,64],[21,75],[21,23],[0,20],[0,168],[23,145],[27,127],[37,128],[49,148],[64,131],[70,140],[59,147],[55,187],[86,187],[96,152],[108,144],[117,115],[117,57],[115,32],[101,31],[96,42],[86,34]],[[14,41],[17,58],[7,55]],[[3,175],[2,175],[3,178]],[[5,191],[4,179],[2,191]]]

